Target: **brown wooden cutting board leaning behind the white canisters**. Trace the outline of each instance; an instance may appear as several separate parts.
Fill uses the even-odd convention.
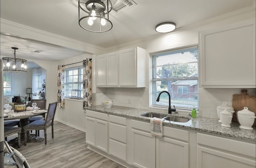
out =
[[[237,121],[237,112],[243,110],[244,107],[248,107],[248,110],[256,113],[256,98],[253,95],[248,94],[248,90],[241,90],[242,94],[233,94],[232,107],[234,108],[233,122]],[[256,126],[256,119],[253,126]]]

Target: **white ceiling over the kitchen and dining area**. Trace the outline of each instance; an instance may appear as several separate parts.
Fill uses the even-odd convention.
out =
[[[112,3],[114,1],[116,0]],[[79,26],[78,0],[1,0],[0,18],[109,48],[158,34],[155,26],[161,22],[174,22],[179,29],[253,6],[255,0],[134,0],[134,2],[137,5],[127,10],[118,13],[111,11],[109,19],[113,23],[113,28],[102,33],[89,32]],[[8,38],[1,34],[1,56],[11,56],[12,46],[19,48],[16,56],[20,54],[22,58],[62,60],[83,54],[59,46],[23,40]],[[36,53],[35,50],[43,50],[43,52]]]

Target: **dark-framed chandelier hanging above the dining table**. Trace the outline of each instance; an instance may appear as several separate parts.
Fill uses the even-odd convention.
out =
[[[27,60],[16,58],[16,50],[18,48],[12,47],[14,50],[12,53],[14,55],[14,58],[5,57],[2,58],[3,60],[3,70],[4,71],[10,71],[10,72],[27,72]]]

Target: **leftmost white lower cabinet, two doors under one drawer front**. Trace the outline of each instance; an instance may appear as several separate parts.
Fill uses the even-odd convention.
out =
[[[108,152],[108,114],[86,110],[86,143]]]

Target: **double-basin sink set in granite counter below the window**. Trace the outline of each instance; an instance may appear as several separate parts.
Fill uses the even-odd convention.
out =
[[[182,118],[178,116],[166,116],[165,114],[157,114],[152,112],[141,114],[141,116],[150,117],[150,118],[157,117],[157,118],[165,119],[167,121],[174,121],[174,122],[188,122],[190,120],[190,118]]]

